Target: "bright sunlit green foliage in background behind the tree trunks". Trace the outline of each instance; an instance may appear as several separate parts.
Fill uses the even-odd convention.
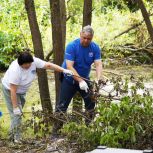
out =
[[[145,0],[144,2],[147,9],[151,10],[152,2],[149,0]],[[67,17],[69,18],[67,21],[66,34],[66,43],[68,43],[79,37],[79,32],[82,27],[83,1],[66,1],[66,7]],[[49,50],[52,49],[49,3],[47,0],[36,0],[35,8],[46,55]],[[149,36],[145,25],[124,34],[115,40],[113,39],[120,32],[142,20],[140,11],[135,12],[133,10],[130,12],[128,8],[130,8],[130,10],[137,9],[135,5],[131,3],[131,0],[93,1],[92,26],[95,29],[94,41],[96,41],[103,49],[103,58],[124,58],[123,52],[121,53],[116,50],[115,46],[126,43],[137,43],[140,46],[144,46],[146,42],[148,42]],[[12,52],[11,54],[1,54],[0,65],[7,66],[14,59],[14,55],[16,54],[14,50],[17,50],[17,52],[18,50],[21,50],[21,48],[30,48],[33,50],[27,14],[24,8],[24,1],[2,0],[0,7],[0,23],[0,31],[3,33],[0,37],[3,39],[3,42],[6,41],[6,43],[9,43],[4,44],[6,45],[5,47],[8,48],[7,50],[12,49],[10,51]],[[14,46],[14,44],[16,46]],[[4,45],[2,45],[1,50],[5,50],[3,47]],[[13,53],[14,55],[12,56]],[[146,54],[145,57],[146,58],[144,59],[143,57],[140,57],[140,59],[142,59],[140,60],[140,63],[144,63],[149,60]]]

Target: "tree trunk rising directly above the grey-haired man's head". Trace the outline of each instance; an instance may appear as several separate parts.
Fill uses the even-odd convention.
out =
[[[83,7],[83,27],[91,25],[92,18],[92,0],[84,0]]]

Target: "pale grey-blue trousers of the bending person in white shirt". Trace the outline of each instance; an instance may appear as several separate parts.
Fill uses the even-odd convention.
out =
[[[11,101],[10,90],[7,90],[2,85],[2,91],[4,94],[5,103],[6,103],[6,106],[10,115],[10,119],[11,119],[10,135],[14,137],[13,139],[20,139],[22,117],[21,115],[14,115],[13,113],[13,105]],[[20,110],[22,110],[25,104],[25,94],[17,94],[17,102],[18,102],[18,106],[20,107]]]

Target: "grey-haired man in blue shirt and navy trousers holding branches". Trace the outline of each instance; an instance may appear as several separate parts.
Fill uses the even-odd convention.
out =
[[[99,46],[92,42],[94,31],[91,26],[85,26],[80,32],[80,38],[70,42],[65,50],[65,58],[62,67],[73,71],[74,76],[64,75],[61,82],[59,103],[56,106],[56,112],[65,113],[71,99],[78,91],[84,102],[86,111],[93,118],[95,102],[88,96],[88,82],[81,77],[89,79],[91,65],[96,67],[96,80],[101,79],[102,62]],[[53,134],[60,127],[53,126]]]

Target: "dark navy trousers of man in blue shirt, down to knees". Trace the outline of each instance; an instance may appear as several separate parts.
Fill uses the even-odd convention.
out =
[[[95,102],[92,101],[89,93],[81,90],[78,82],[72,84],[71,82],[63,78],[61,82],[59,102],[56,106],[56,112],[66,112],[73,96],[77,91],[81,94],[81,97],[84,100],[86,111],[93,110],[95,107]]]

